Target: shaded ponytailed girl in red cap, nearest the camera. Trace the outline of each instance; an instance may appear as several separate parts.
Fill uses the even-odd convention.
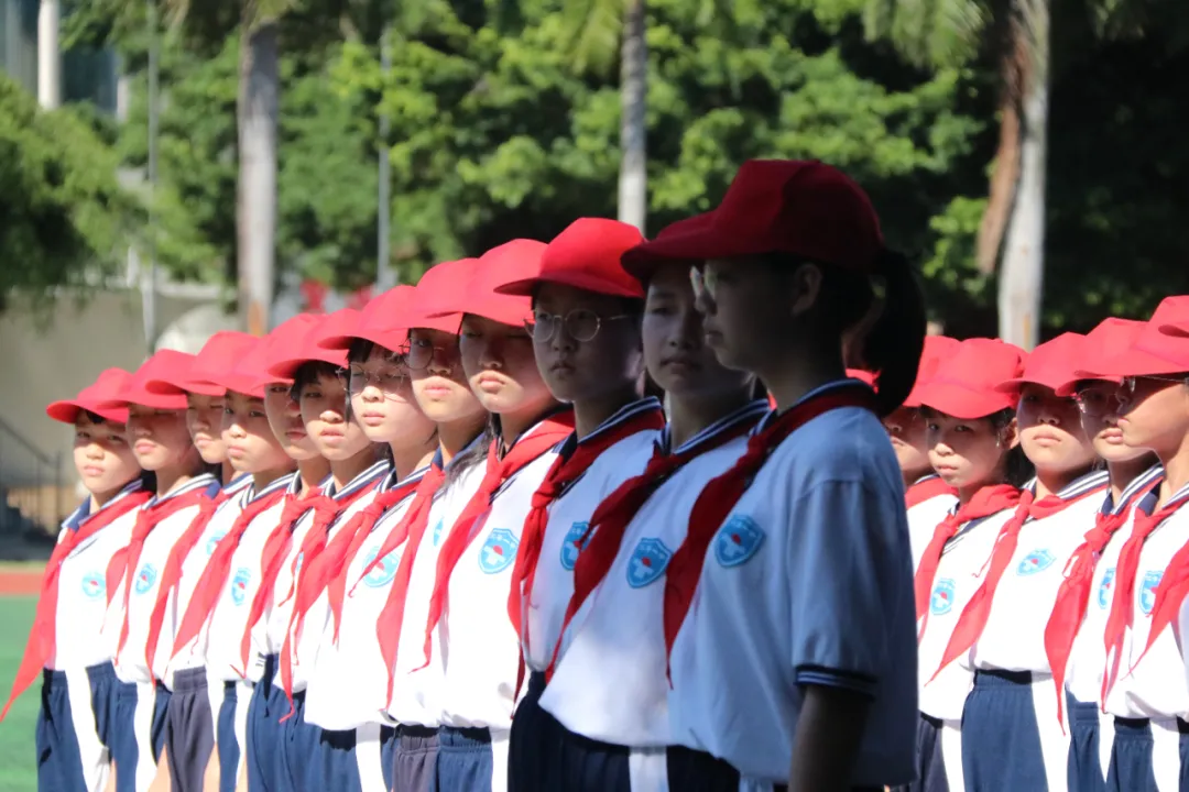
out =
[[[669,787],[907,781],[912,559],[880,424],[912,389],[924,343],[907,261],[853,180],[788,160],[746,163],[718,208],[641,254],[706,260],[693,273],[706,342],[776,403],[702,490],[666,569],[653,629],[686,749],[671,752]],[[877,391],[845,365],[879,370]]]

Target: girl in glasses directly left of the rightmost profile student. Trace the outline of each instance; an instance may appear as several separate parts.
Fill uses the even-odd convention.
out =
[[[1092,367],[1130,348],[1143,327],[1143,322],[1106,319],[1086,336],[1075,368]],[[1069,724],[1068,781],[1075,792],[1101,792],[1111,759],[1109,740],[1100,743],[1099,699],[1106,666],[1102,636],[1111,607],[1111,582],[1124,543],[1115,536],[1126,525],[1138,498],[1162,475],[1151,451],[1122,442],[1118,389],[1115,380],[1077,379],[1056,391],[1074,395],[1082,429],[1094,452],[1106,462],[1109,475],[1109,489],[1099,503],[1093,530],[1087,520],[1082,526],[1087,528],[1086,536],[1065,562],[1064,582],[1044,634],[1057,708],[1064,709]]]

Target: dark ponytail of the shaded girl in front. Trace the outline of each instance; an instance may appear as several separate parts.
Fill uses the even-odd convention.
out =
[[[863,360],[875,378],[875,401],[880,416],[898,410],[917,381],[925,346],[925,297],[908,260],[900,253],[881,251],[875,279],[882,281],[879,315],[862,338]]]

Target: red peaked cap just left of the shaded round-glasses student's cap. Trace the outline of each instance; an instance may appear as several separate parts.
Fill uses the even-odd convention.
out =
[[[461,289],[442,296],[438,315],[472,313],[501,324],[523,327],[533,319],[533,299],[496,290],[535,278],[541,272],[541,259],[547,248],[545,242],[528,239],[514,239],[491,248],[479,256],[473,274]]]

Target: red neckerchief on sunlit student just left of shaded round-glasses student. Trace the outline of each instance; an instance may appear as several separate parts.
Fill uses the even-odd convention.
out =
[[[558,443],[562,442],[574,431],[574,413],[566,411],[559,416],[542,422],[533,431],[518,438],[509,449],[504,457],[499,458],[501,441],[496,438],[487,449],[487,468],[483,475],[483,482],[471,499],[463,507],[454,526],[442,543],[442,549],[438,555],[438,568],[434,574],[434,590],[429,597],[429,614],[426,619],[424,652],[426,663],[421,669],[429,665],[433,654],[434,627],[441,621],[446,610],[446,600],[449,595],[449,578],[458,566],[459,559],[466,551],[473,538],[474,527],[479,518],[491,509],[491,499],[505,481],[523,470],[528,464],[541,458]],[[408,551],[405,551],[408,552]],[[416,549],[414,549],[416,552]]]

